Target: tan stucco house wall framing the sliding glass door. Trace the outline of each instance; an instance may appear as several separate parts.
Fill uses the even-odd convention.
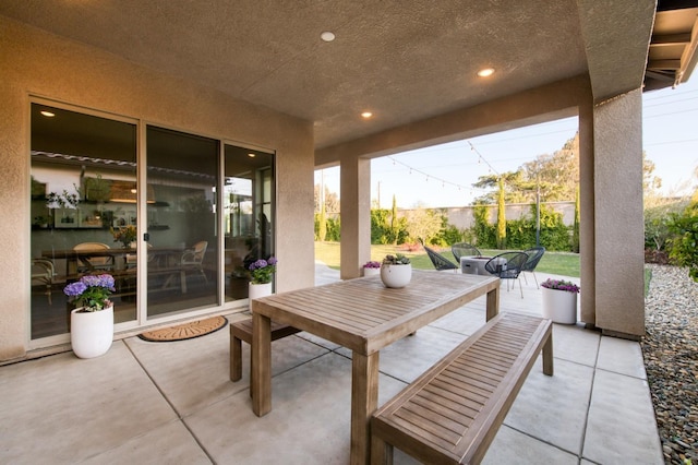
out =
[[[312,286],[312,123],[0,16],[0,360],[29,348],[29,99],[39,96],[277,154],[277,289]]]

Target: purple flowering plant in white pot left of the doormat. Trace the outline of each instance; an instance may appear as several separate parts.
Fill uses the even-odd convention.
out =
[[[76,308],[70,313],[70,342],[80,358],[99,357],[113,339],[113,276],[86,275],[63,288]]]

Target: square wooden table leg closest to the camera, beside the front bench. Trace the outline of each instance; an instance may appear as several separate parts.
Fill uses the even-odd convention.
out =
[[[352,465],[371,458],[371,415],[378,408],[378,354],[351,356],[351,450]]]

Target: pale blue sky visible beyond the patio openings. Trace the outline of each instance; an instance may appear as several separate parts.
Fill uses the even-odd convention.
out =
[[[676,88],[642,95],[642,145],[654,163],[665,195],[690,194],[698,187],[698,70]],[[577,118],[566,118],[496,134],[404,152],[371,162],[371,199],[390,208],[447,207],[471,204],[485,191],[474,189],[488,174],[515,171],[552,154],[574,138]],[[324,171],[324,175],[323,175]],[[339,195],[339,168],[315,171]]]

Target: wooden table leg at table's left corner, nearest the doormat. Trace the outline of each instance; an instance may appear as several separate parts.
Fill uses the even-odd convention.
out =
[[[252,412],[257,417],[272,412],[272,320],[252,314]]]

